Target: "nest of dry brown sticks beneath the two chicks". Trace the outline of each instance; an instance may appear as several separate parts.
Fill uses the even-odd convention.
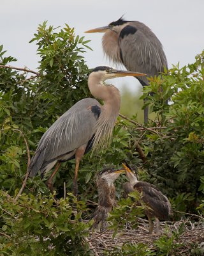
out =
[[[177,221],[177,222],[161,222],[160,234],[149,234],[149,222],[143,219],[139,220],[138,228],[131,227],[126,230],[120,230],[115,238],[113,238],[113,231],[106,230],[103,233],[92,232],[87,240],[90,249],[94,255],[102,256],[104,251],[111,252],[115,246],[120,246],[124,243],[143,243],[147,244],[149,248],[155,248],[154,241],[166,234],[171,237],[172,230],[179,230],[180,225],[184,223],[184,232],[179,236],[175,243],[182,244],[179,248],[178,255],[191,255],[192,244],[200,244],[204,247],[204,223],[197,223],[195,225],[191,221]],[[166,232],[165,230],[169,230]]]

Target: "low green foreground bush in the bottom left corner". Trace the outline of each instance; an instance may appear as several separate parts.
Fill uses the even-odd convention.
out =
[[[87,209],[72,194],[57,202],[24,194],[15,202],[1,191],[0,202],[1,255],[90,255],[83,238],[91,223],[81,221]]]

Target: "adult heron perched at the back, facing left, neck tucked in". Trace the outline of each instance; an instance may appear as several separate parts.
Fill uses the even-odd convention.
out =
[[[128,21],[122,17],[108,26],[95,28],[85,33],[105,33],[102,38],[103,51],[108,58],[123,64],[128,70],[154,77],[168,68],[163,46],[157,36],[145,24]],[[138,80],[142,86],[148,85],[147,77]],[[145,108],[144,122],[148,121],[148,108]]]

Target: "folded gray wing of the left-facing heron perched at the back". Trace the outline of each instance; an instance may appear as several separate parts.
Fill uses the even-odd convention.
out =
[[[147,77],[158,75],[168,68],[161,42],[145,24],[131,22],[137,29],[134,34],[124,36],[119,42],[122,60],[128,70],[143,72]],[[124,28],[126,29],[126,28]],[[148,83],[146,77],[141,77]]]

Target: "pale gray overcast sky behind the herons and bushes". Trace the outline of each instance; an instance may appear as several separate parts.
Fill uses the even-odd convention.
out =
[[[164,47],[168,65],[180,66],[194,62],[194,56],[204,49],[203,0],[1,0],[0,45],[18,59],[18,67],[36,70],[38,56],[35,43],[29,44],[38,24],[75,28],[75,35],[85,36],[94,50],[85,54],[90,68],[112,65],[103,56],[101,33],[85,34],[87,29],[108,25],[122,15],[126,20],[139,20],[149,26]],[[132,77],[115,79],[119,88],[128,83],[138,85]]]

